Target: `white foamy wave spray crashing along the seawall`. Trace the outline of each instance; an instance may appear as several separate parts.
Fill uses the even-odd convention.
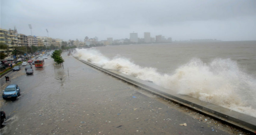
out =
[[[117,70],[136,78],[189,95],[201,101],[220,105],[256,117],[256,80],[243,72],[236,61],[214,59],[203,63],[193,58],[173,74],[161,74],[152,67],[141,67],[127,58],[109,59],[96,49],[76,49],[80,59],[109,70]]]

